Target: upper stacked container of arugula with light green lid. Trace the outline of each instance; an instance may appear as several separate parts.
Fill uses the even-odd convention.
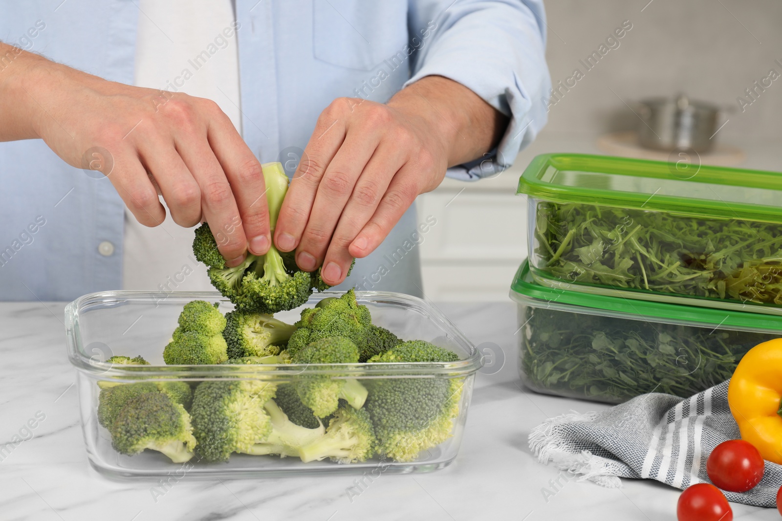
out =
[[[518,192],[529,196],[529,261],[540,284],[782,314],[776,172],[544,154]]]

